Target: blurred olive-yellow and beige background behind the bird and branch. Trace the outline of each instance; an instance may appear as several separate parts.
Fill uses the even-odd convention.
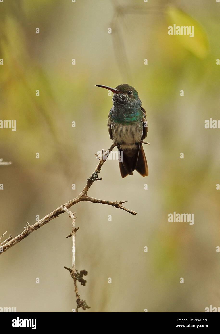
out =
[[[149,176],[122,179],[118,162],[108,160],[88,192],[128,200],[137,215],[89,202],[71,208],[80,227],[76,268],[89,272],[79,286],[86,312],[220,306],[220,130],[204,128],[206,119],[219,119],[219,15],[219,3],[203,0],[0,3],[0,118],[17,120],[16,131],[0,130],[0,158],[12,162],[0,166],[0,235],[14,237],[76,197],[98,163],[95,153],[111,145],[111,97],[96,84],[129,83],[147,112]],[[194,25],[194,38],[168,35],[173,24]],[[174,211],[194,213],[194,225],[169,223]],[[76,308],[64,269],[72,264],[70,231],[62,214],[2,254],[0,307]]]

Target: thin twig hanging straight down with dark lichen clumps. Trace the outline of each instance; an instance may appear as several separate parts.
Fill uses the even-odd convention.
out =
[[[83,308],[83,310],[86,310],[86,309],[90,309],[90,307],[87,305],[86,301],[85,300],[81,300],[80,299],[80,295],[79,295],[79,292],[78,292],[78,287],[77,287],[77,281],[79,281],[81,283],[81,285],[86,285],[86,281],[83,279],[83,276],[87,275],[88,272],[86,270],[81,270],[80,271],[80,274],[78,273],[78,271],[76,270],[76,266],[75,266],[75,253],[76,253],[76,246],[75,246],[75,241],[76,241],[76,231],[79,229],[79,227],[76,227],[75,223],[76,223],[76,217],[74,216],[75,213],[71,212],[70,210],[68,210],[65,206],[63,206],[63,209],[64,211],[66,211],[69,215],[69,217],[71,218],[72,220],[72,232],[67,236],[72,236],[72,241],[73,241],[73,247],[72,247],[72,253],[73,253],[73,258],[72,258],[72,269],[68,268],[68,267],[64,267],[65,269],[67,269],[70,274],[71,274],[71,277],[73,278],[74,280],[74,287],[75,287],[75,293],[76,293],[76,301],[77,301],[77,309],[76,311],[78,312],[78,309],[80,307]]]

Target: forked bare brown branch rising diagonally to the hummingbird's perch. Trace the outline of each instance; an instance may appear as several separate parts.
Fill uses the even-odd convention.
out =
[[[110,148],[108,149],[108,152],[110,153],[113,148],[116,146],[115,142],[112,143],[112,145],[110,146]],[[102,159],[100,157],[100,161],[96,167],[96,169],[94,170],[93,174],[87,178],[87,183],[85,185],[85,187],[83,188],[83,190],[81,191],[81,193],[75,197],[74,199],[70,200],[69,202],[59,206],[57,209],[55,209],[54,211],[50,212],[49,214],[47,214],[45,217],[41,218],[40,220],[38,220],[37,222],[35,222],[33,225],[29,225],[29,223],[27,223],[26,227],[24,228],[24,230],[17,235],[16,237],[14,237],[12,239],[11,235],[10,235],[10,239],[6,239],[5,241],[3,241],[2,243],[3,246],[1,247],[0,250],[0,255],[4,252],[6,252],[9,248],[11,248],[12,246],[14,246],[16,243],[20,242],[21,240],[23,240],[24,238],[26,238],[30,233],[32,233],[33,231],[36,231],[38,228],[42,227],[43,225],[47,224],[50,220],[58,217],[61,213],[64,213],[64,207],[66,207],[67,209],[69,209],[71,206],[77,204],[80,201],[89,201],[89,202],[93,202],[93,203],[101,203],[101,204],[107,204],[107,205],[111,205],[114,206],[115,208],[120,208],[124,211],[127,211],[133,215],[136,215],[135,211],[129,210],[126,207],[124,207],[122,204],[125,203],[125,201],[120,201],[120,202],[110,202],[110,201],[104,201],[101,199],[97,199],[97,198],[93,198],[93,197],[88,197],[87,192],[90,189],[91,185],[99,180],[98,178],[98,173],[101,171],[102,165],[104,164],[104,162],[106,161],[106,159]],[[4,233],[5,235],[5,233]],[[3,236],[4,236],[3,235]]]

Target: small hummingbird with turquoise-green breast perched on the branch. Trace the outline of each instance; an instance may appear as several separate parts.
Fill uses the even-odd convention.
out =
[[[106,88],[113,92],[113,107],[108,114],[108,131],[110,139],[114,140],[120,155],[119,169],[121,176],[133,175],[136,170],[142,176],[148,175],[147,160],[141,141],[147,136],[148,125],[146,111],[141,106],[142,101],[134,87],[127,83],[115,89]]]

